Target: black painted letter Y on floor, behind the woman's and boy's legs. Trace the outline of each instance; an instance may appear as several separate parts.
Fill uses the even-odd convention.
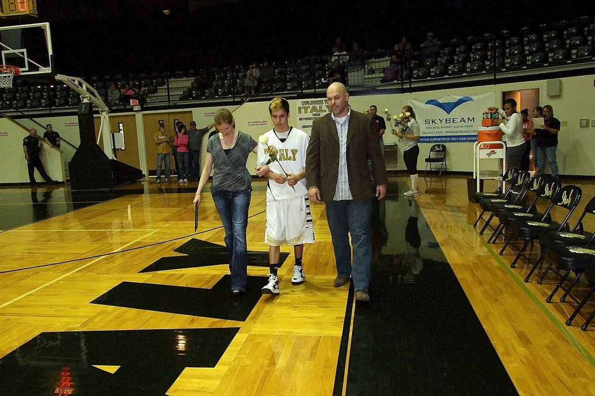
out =
[[[154,271],[179,270],[182,268],[211,267],[229,263],[229,254],[224,245],[206,242],[201,239],[190,239],[188,242],[174,249],[174,252],[186,256],[162,257],[153,264],[141,270],[141,273]],[[281,252],[280,264],[287,259],[289,253]],[[248,265],[252,267],[268,267],[268,252],[248,251]]]

